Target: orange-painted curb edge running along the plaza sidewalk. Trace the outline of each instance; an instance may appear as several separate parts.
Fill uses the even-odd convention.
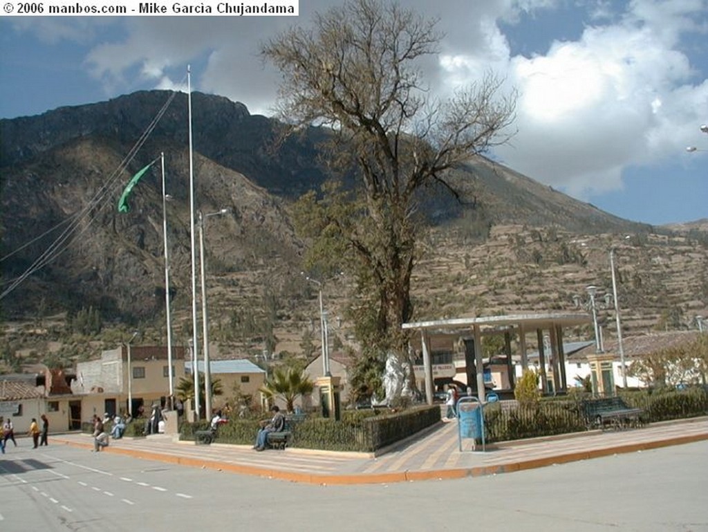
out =
[[[93,444],[80,443],[75,441],[62,440],[54,438],[55,442],[62,443],[67,446],[92,449]],[[626,443],[623,445],[607,447],[603,449],[594,449],[592,451],[576,451],[573,453],[560,454],[547,458],[534,458],[532,460],[518,460],[506,464],[498,465],[483,465],[474,468],[458,468],[458,469],[443,469],[443,470],[427,470],[427,471],[397,471],[383,473],[362,473],[349,475],[319,475],[316,473],[300,473],[274,470],[269,468],[259,468],[253,465],[234,464],[234,463],[219,463],[213,460],[204,460],[202,458],[187,458],[183,456],[174,456],[165,453],[153,453],[150,451],[141,451],[135,449],[127,449],[120,447],[105,447],[102,453],[115,453],[143,460],[155,460],[163,463],[171,463],[175,465],[184,465],[191,468],[210,469],[216,471],[231,472],[239,475],[251,475],[265,477],[270,479],[285,480],[289,482],[297,482],[300,484],[316,484],[316,485],[365,485],[365,484],[394,484],[396,482],[419,482],[423,480],[453,480],[466,477],[484,477],[489,475],[498,475],[501,473],[510,473],[517,471],[530,470],[535,468],[544,468],[549,465],[558,465],[564,463],[577,462],[580,460],[591,460],[593,458],[602,458],[624,453],[636,453],[641,451],[651,451],[652,449],[663,448],[668,446],[685,445],[686,443],[695,443],[697,441],[707,441],[708,434],[694,434],[691,436],[675,436],[663,440],[647,441],[644,443]]]

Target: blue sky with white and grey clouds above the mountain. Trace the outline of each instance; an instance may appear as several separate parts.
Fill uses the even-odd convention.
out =
[[[0,118],[149,89],[192,89],[273,115],[280,75],[263,40],[297,17],[0,16]],[[708,0],[401,0],[438,19],[423,64],[445,97],[487,72],[518,93],[493,159],[573,198],[652,225],[708,218]],[[692,146],[697,149],[687,152]]]

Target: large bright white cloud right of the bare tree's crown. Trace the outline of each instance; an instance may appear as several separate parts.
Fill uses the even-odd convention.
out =
[[[698,4],[636,1],[616,26],[586,28],[544,56],[510,58],[519,132],[498,155],[581,198],[621,189],[628,166],[677,157],[682,131],[708,105],[707,83],[690,84],[694,71],[675,48],[695,29],[688,19]]]

